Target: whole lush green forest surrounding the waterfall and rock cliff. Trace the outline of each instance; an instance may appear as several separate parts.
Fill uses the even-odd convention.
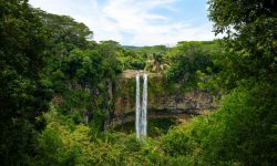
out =
[[[208,6],[225,38],[167,48],[95,42],[70,17],[0,0],[0,165],[276,165],[276,1]],[[140,142],[133,123],[111,125],[126,104],[116,95],[135,104],[125,71],[150,73],[150,103],[195,92],[213,106],[187,121],[154,120]]]

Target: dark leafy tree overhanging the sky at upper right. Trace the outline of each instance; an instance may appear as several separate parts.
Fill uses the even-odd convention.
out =
[[[274,80],[277,73],[277,8],[273,0],[211,0],[216,33],[226,33],[222,80],[234,87],[246,77]]]

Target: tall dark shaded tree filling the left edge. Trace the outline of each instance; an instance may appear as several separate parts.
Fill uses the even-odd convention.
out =
[[[33,154],[38,116],[52,97],[45,65],[45,28],[27,0],[0,0],[0,160],[22,165]]]

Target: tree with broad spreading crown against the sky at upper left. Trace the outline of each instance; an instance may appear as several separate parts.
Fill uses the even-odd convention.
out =
[[[35,9],[48,30],[48,49],[54,56],[66,55],[70,51],[88,49],[93,32],[83,23],[66,15],[57,15]]]

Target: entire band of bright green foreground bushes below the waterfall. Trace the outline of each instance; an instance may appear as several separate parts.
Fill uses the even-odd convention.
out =
[[[247,82],[247,84],[250,84]],[[274,165],[276,87],[242,84],[223,106],[181,124],[158,138],[98,133],[52,111],[39,137],[40,165]]]

